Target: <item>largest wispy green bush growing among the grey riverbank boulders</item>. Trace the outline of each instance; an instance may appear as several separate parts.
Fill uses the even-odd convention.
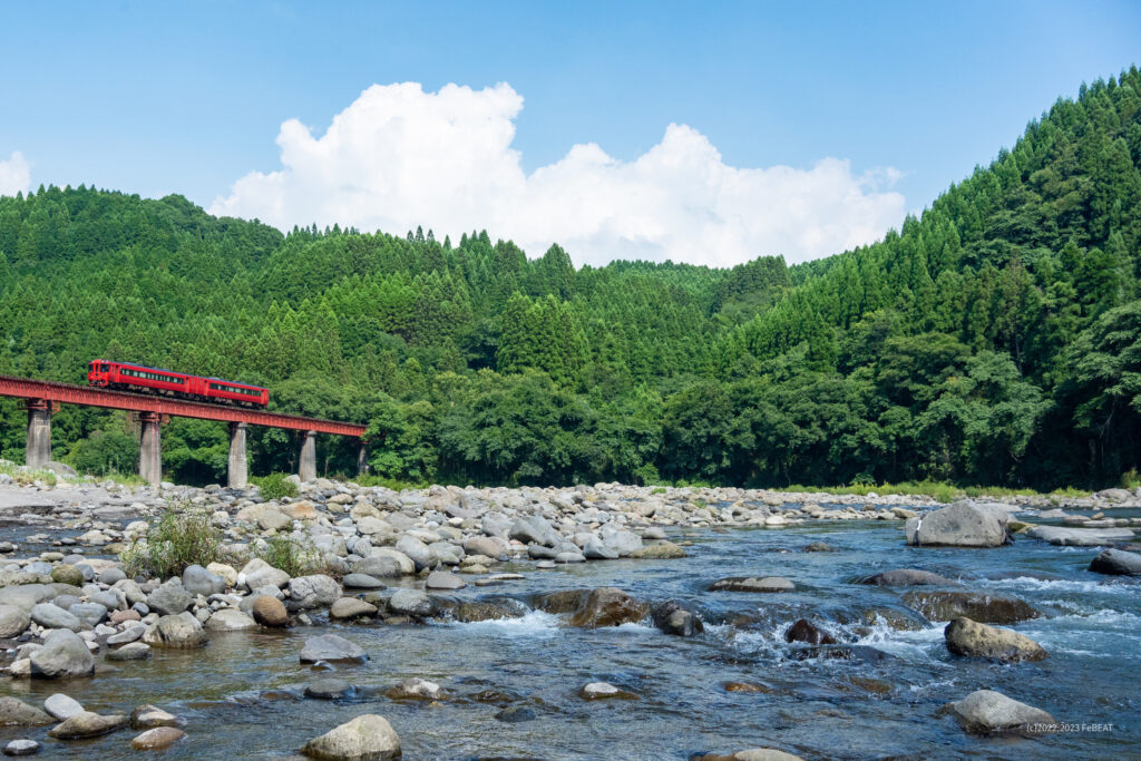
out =
[[[221,532],[210,524],[204,510],[168,509],[151,524],[146,537],[122,554],[129,577],[169,578],[187,566],[207,566],[221,559]]]

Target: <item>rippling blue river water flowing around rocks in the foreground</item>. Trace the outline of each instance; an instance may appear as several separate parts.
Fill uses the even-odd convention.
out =
[[[527,600],[545,591],[620,586],[641,600],[694,606],[707,624],[691,639],[667,637],[648,622],[574,629],[542,612],[426,626],[322,620],[283,634],[215,634],[203,649],[156,650],[152,661],[116,664],[116,672],[94,679],[8,681],[0,693],[38,703],[65,691],[99,713],[153,703],[187,721],[188,737],[163,753],[168,759],[294,758],[306,740],[362,713],[389,720],[406,759],[687,759],[759,746],[806,759],[1141,756],[1141,580],[1087,572],[1097,548],[1034,540],[993,550],[908,548],[900,524],[882,521],[690,531],[671,539],[693,542],[688,558],[556,570],[519,564],[513,568],[525,581],[453,594]],[[835,551],[802,552],[812,541]],[[1043,617],[1014,628],[1050,657],[998,665],[952,656],[944,624],[903,606],[908,590],[855,583],[907,567],[960,578],[966,590],[1027,600]],[[787,576],[798,591],[706,591],[734,575]],[[864,647],[851,659],[798,657],[802,646],[786,643],[783,633],[800,617]],[[300,665],[298,654],[307,634],[327,631],[371,656],[338,669],[357,687],[353,699],[301,697],[307,683],[329,674]],[[405,677],[436,681],[452,699],[398,703],[381,694]],[[590,681],[612,682],[641,699],[584,702],[577,690]],[[734,681],[763,691],[727,691],[723,685]],[[940,705],[982,688],[1075,727],[1039,738],[979,738],[937,715]],[[504,723],[495,719],[500,706],[466,697],[487,689],[515,694],[515,704],[532,707],[536,718]],[[33,737],[43,743],[43,755],[57,758],[137,758],[131,736],[62,743],[43,729],[0,729],[0,742]]]

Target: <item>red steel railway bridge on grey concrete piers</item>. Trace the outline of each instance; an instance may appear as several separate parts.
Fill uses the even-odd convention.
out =
[[[228,484],[230,487],[240,488],[246,484],[249,459],[245,451],[245,431],[251,424],[302,431],[298,476],[304,481],[317,477],[317,434],[351,436],[361,439],[357,448],[357,471],[363,473],[365,468],[365,442],[363,438],[365,427],[359,423],[285,415],[264,410],[186,402],[146,394],[112,391],[90,386],[11,375],[0,375],[0,396],[24,399],[24,407],[27,410],[25,463],[30,468],[42,468],[51,461],[51,413],[57,411],[60,404],[108,407],[139,413],[139,421],[143,426],[143,438],[139,446],[139,476],[153,485],[157,485],[162,480],[161,424],[170,418],[199,418],[229,423]]]

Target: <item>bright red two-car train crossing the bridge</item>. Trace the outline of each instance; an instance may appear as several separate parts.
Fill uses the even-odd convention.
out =
[[[92,359],[87,369],[89,386],[175,396],[195,402],[264,407],[269,404],[269,389],[220,378],[200,378],[170,370],[132,365],[127,362]]]

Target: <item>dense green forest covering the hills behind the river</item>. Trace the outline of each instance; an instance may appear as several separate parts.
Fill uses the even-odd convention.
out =
[[[1049,489],[1141,465],[1136,67],[872,245],[728,269],[527,253],[41,186],[0,197],[0,374],[86,382],[102,357],[265,384],[367,422],[372,472],[412,483]],[[25,423],[0,400],[0,458],[23,462]],[[54,459],[135,470],[124,413],[52,427]],[[253,473],[297,450],[251,428]],[[226,454],[222,423],[163,429],[173,480],[224,481]],[[319,471],[354,463],[322,437]]]

